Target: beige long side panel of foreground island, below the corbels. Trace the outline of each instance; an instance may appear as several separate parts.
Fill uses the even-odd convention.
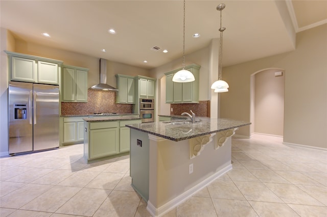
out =
[[[150,135],[149,202],[159,211],[156,214],[187,199],[183,197],[190,195],[185,192],[192,194],[204,187],[206,180],[231,169],[230,138],[217,150],[215,142],[216,135],[200,155],[190,159],[189,140],[174,142]],[[194,168],[191,174],[190,164]]]

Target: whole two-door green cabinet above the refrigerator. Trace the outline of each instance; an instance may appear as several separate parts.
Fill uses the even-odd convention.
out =
[[[62,61],[6,51],[9,79],[20,82],[59,85]]]

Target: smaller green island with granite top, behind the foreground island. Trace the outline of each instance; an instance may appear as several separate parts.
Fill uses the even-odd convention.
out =
[[[87,163],[129,154],[130,128],[139,115],[92,116],[84,120],[84,158]]]

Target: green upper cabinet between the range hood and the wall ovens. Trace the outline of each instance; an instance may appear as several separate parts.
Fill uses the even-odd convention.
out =
[[[134,104],[135,103],[135,85],[134,77],[128,75],[116,74],[116,103]]]

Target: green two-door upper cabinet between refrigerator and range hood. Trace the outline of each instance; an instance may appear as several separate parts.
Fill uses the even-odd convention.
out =
[[[87,102],[88,69],[62,66],[62,101]]]

